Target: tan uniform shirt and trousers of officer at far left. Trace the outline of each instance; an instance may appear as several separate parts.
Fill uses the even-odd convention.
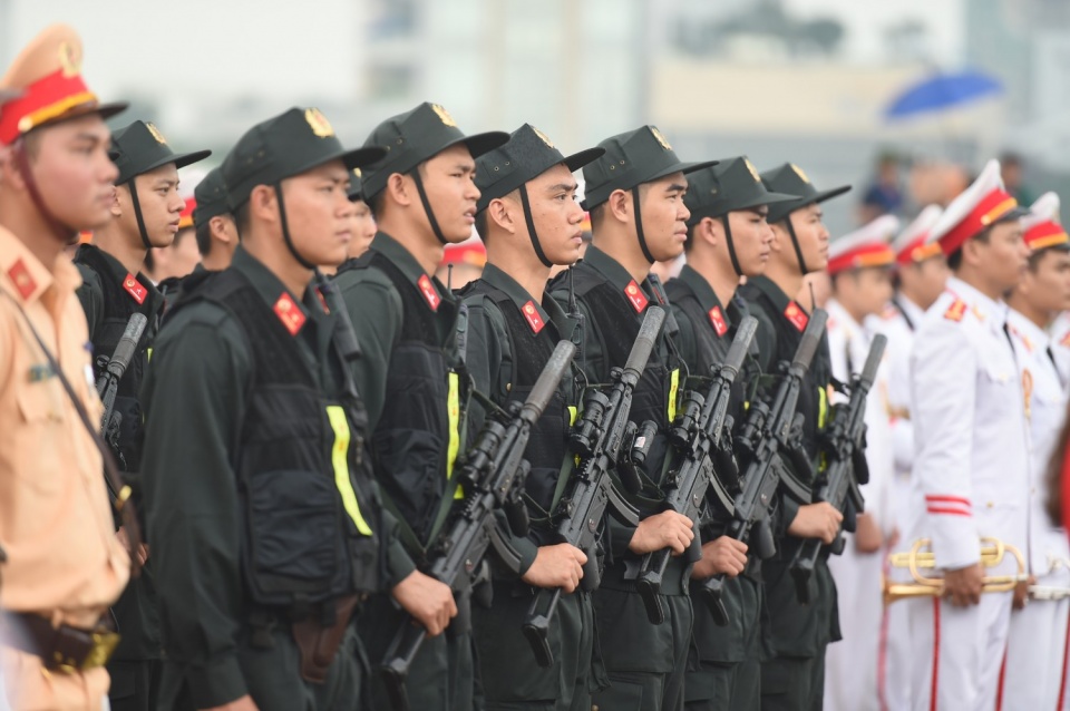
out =
[[[16,306],[96,422],[101,406],[75,298],[80,283],[66,256],[49,274],[0,227],[0,546],[8,554],[0,607],[91,627],[126,586],[129,561],[115,536],[100,456]],[[25,694],[16,708],[90,708],[101,684],[107,690],[104,670],[62,679],[42,673],[30,655],[2,652],[7,684],[16,688],[9,693]]]

